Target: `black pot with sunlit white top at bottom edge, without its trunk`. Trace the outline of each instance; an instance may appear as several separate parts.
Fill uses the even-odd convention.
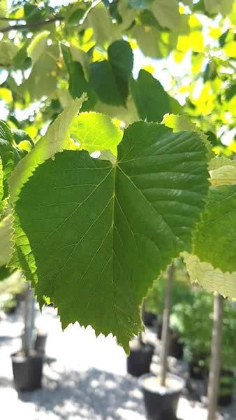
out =
[[[184,380],[168,374],[167,386],[160,386],[157,377],[145,374],[139,381],[144,395],[147,420],[177,420],[177,407]]]

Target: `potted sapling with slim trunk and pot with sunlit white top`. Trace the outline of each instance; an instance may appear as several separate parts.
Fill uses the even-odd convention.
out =
[[[148,420],[176,420],[179,395],[184,388],[184,380],[168,373],[168,339],[171,288],[174,265],[168,268],[165,287],[165,305],[161,343],[161,372],[158,377],[145,374],[140,377],[140,387],[145,399]]]

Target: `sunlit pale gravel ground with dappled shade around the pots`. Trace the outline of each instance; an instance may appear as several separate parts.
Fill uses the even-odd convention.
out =
[[[145,420],[142,393],[137,380],[126,373],[126,355],[114,337],[96,338],[92,328],[70,325],[61,332],[57,311],[36,311],[36,327],[48,333],[43,388],[17,393],[13,388],[10,354],[20,349],[22,309],[0,321],[0,416],[1,420]],[[154,332],[147,338],[156,344]],[[187,378],[186,365],[174,358],[170,370]],[[154,356],[152,371],[158,370]],[[191,383],[191,396],[180,398],[179,420],[206,420],[207,411],[197,401],[200,381]],[[196,398],[193,400],[193,398]],[[217,420],[235,420],[236,402],[221,410]]]

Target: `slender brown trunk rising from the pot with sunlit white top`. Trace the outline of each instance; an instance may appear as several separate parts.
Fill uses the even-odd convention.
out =
[[[163,324],[161,331],[161,386],[165,386],[165,379],[168,367],[168,346],[169,346],[169,318],[171,305],[171,290],[174,276],[174,265],[168,268],[168,277],[165,286],[165,306],[163,311]]]

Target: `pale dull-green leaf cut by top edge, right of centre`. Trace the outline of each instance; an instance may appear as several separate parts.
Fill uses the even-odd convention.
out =
[[[162,27],[175,29],[179,25],[179,5],[175,0],[154,0],[151,6],[157,22]]]

